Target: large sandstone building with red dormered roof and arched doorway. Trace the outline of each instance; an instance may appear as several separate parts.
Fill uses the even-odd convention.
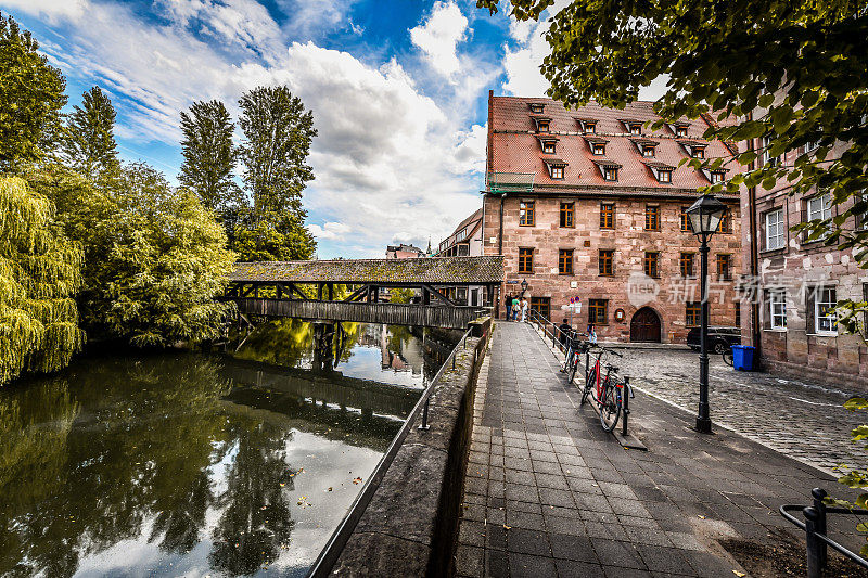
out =
[[[738,165],[713,175],[681,166],[732,151],[702,139],[706,121],[646,125],[656,119],[650,102],[567,111],[489,92],[483,247],[505,256],[501,296],[526,281],[532,306],[558,322],[579,299],[574,324],[595,321],[601,339],[684,343],[700,299],[699,241],[684,210]],[[711,323],[731,326],[741,219],[738,195],[719,198],[730,211],[711,242]]]

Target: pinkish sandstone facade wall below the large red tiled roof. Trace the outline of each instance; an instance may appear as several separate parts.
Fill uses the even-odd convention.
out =
[[[519,284],[527,280],[526,295],[548,297],[551,301],[551,318],[560,323],[569,313],[561,306],[570,303],[570,297],[582,299],[582,313],[574,317],[574,325],[585,329],[588,322],[588,299],[608,299],[608,324],[598,326],[597,333],[605,341],[630,341],[630,319],[640,306],[654,309],[661,318],[662,342],[685,343],[689,331],[686,323],[686,301],[699,301],[699,241],[692,233],[680,231],[681,208],[692,200],[673,200],[641,196],[618,197],[576,197],[569,194],[528,196],[536,201],[536,224],[519,226],[519,203],[522,197],[508,196],[503,206],[503,256],[507,294],[519,293]],[[560,227],[560,204],[575,203],[575,227]],[[615,205],[615,228],[600,228],[600,204],[611,202]],[[660,207],[660,231],[646,231],[646,207]],[[709,254],[709,271],[713,285],[710,293],[712,325],[737,325],[733,281],[718,282],[716,262],[719,254],[731,255],[731,274],[735,279],[741,271],[741,218],[740,208],[731,206],[732,232],[718,233],[712,237]],[[500,198],[486,195],[484,201],[484,246],[486,255],[497,255],[499,251]],[[534,272],[518,272],[519,248],[534,249]],[[573,249],[573,274],[558,273],[559,249]],[[614,249],[614,274],[602,277],[599,273],[599,249]],[[648,301],[637,300],[628,295],[631,274],[641,274],[646,252],[659,252],[660,277],[653,280],[659,291],[648,294]],[[681,253],[693,253],[694,279],[680,277],[679,257]],[[634,278],[635,279],[635,278]],[[503,292],[501,292],[503,295]],[[624,310],[624,320],[615,319],[615,311]],[[502,299],[499,311],[502,317]]]

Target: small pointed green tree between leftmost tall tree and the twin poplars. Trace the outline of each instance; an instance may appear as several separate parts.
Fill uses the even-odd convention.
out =
[[[61,152],[64,160],[88,177],[117,167],[115,108],[100,87],[85,92],[66,121]]]

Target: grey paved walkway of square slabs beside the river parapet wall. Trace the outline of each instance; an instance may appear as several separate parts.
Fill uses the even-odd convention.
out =
[[[476,391],[459,576],[731,578],[744,570],[718,539],[790,531],[778,505],[805,502],[818,485],[840,487],[739,435],[697,434],[691,414],[641,393],[630,423],[649,451],[625,450],[578,407],[578,391],[528,325],[497,323],[489,355]]]

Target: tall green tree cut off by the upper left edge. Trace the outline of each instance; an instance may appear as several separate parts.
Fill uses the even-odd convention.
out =
[[[65,88],[30,33],[0,12],[0,171],[39,160],[52,147]]]

